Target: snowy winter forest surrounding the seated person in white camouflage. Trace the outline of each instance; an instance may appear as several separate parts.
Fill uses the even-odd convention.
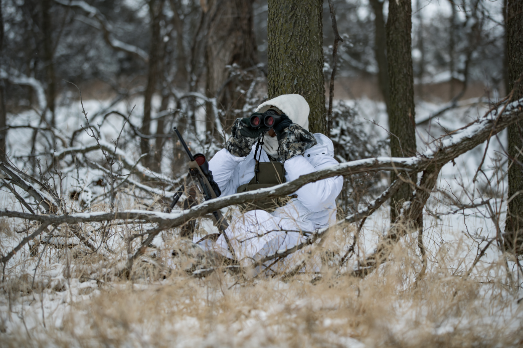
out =
[[[519,346],[523,6],[394,4],[0,1],[2,345]],[[211,158],[292,92],[338,224],[265,272],[197,266],[180,235],[249,198],[167,213],[173,126]]]

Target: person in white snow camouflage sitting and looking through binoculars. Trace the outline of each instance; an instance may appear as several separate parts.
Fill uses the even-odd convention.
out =
[[[305,98],[297,94],[281,95],[262,103],[255,112],[263,114],[269,109],[279,114],[278,124],[272,129],[256,128],[250,126],[247,118],[237,119],[225,148],[209,161],[221,196],[243,192],[241,190],[250,184],[264,187],[261,179],[258,182],[259,164],[282,168],[278,173],[284,178],[280,181],[292,181],[338,164],[332,141],[321,133],[309,132],[309,104]],[[267,254],[292,248],[303,242],[308,233],[333,224],[335,200],[342,185],[342,177],[318,180],[304,185],[274,210],[233,211],[226,234],[237,261],[245,265]],[[215,241],[203,240],[198,245],[233,258],[223,236]]]

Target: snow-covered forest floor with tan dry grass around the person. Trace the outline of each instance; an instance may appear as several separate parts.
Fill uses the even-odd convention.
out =
[[[361,131],[372,138],[369,141],[386,138],[384,129],[388,125],[382,103],[369,99],[345,102],[358,111]],[[155,103],[158,107],[159,101]],[[130,114],[129,121],[140,125],[140,98],[116,105],[95,100],[83,104],[101,141],[115,140],[124,122],[116,114],[104,120],[109,111]],[[475,100],[460,105],[417,127],[420,153],[434,148],[440,136],[481,117],[487,110]],[[416,121],[426,120],[440,108],[441,105],[418,103]],[[56,150],[96,143],[84,131],[77,133],[73,143],[69,142],[71,134],[86,123],[79,102],[59,107],[56,114]],[[40,125],[40,116],[34,111],[9,115],[8,120],[11,125]],[[186,131],[184,136],[194,153],[212,155],[217,145],[204,145],[203,124],[200,111],[196,131]],[[151,130],[155,129],[153,121]],[[124,134],[118,146],[124,153],[122,157],[137,163],[138,139],[132,136],[129,125]],[[9,156],[22,170],[29,170],[30,161],[24,156],[31,154],[31,137],[29,129],[9,131]],[[348,250],[356,230],[349,226],[333,231],[321,246],[295,256],[305,258],[306,264],[311,264],[309,269],[318,273],[298,274],[290,281],[281,275],[249,279],[213,274],[197,280],[179,269],[158,273],[157,265],[163,265],[170,257],[162,248],[171,250],[169,243],[177,242],[169,241],[166,235],[155,239],[160,249],[156,258],[144,263],[142,276],[121,281],[107,276],[108,265],[115,265],[127,254],[121,247],[126,229],[115,227],[115,234],[106,243],[107,248],[117,251],[115,254],[104,253],[101,248],[87,258],[76,251],[79,247],[42,250],[42,246],[34,256],[27,246],[16,254],[5,269],[0,291],[0,342],[6,346],[517,346],[523,339],[523,304],[518,301],[523,291],[516,263],[506,261],[493,242],[472,269],[477,254],[496,236],[496,224],[504,228],[505,144],[505,132],[492,138],[483,171],[476,181],[473,178],[485,144],[442,168],[438,190],[424,215],[427,270],[421,280],[416,281],[423,265],[416,234],[398,243],[391,260],[366,279],[343,275],[343,270],[355,264],[356,257],[346,262],[342,273],[338,272],[337,262]],[[172,154],[172,146],[168,142],[164,153]],[[53,148],[53,144],[39,137],[32,154],[49,154]],[[93,162],[103,161],[99,150],[86,156]],[[162,161],[166,176],[174,170],[169,156],[165,155]],[[74,164],[60,170],[64,173],[61,193],[69,197],[71,190],[77,190],[84,195],[83,205],[67,201],[71,211],[104,210],[100,202],[107,192],[106,186],[99,184],[105,177],[102,170],[78,168]],[[464,205],[488,200],[494,214],[487,205],[457,210],[449,204],[448,195]],[[153,196],[132,197],[122,194],[121,207],[143,208],[144,200],[155,202]],[[0,190],[0,202],[3,208],[22,210],[5,187]],[[27,235],[15,231],[27,226],[18,219],[3,219],[0,223],[0,245],[5,255]],[[361,231],[360,257],[372,252],[389,225],[386,207],[367,219]],[[212,226],[202,223],[201,228],[211,230]],[[307,256],[309,251],[312,257]],[[312,279],[315,281],[311,283]]]

